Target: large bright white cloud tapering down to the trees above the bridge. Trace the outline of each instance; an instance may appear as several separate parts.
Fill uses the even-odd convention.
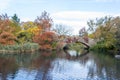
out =
[[[64,24],[72,27],[74,29],[74,34],[78,34],[82,27],[87,27],[88,20],[116,15],[112,13],[108,14],[104,12],[89,11],[62,11],[51,14],[55,24]]]

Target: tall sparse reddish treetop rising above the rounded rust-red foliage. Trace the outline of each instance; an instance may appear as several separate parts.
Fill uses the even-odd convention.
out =
[[[35,23],[37,26],[41,27],[42,32],[50,31],[52,22],[52,19],[46,11],[42,12],[41,16],[38,16],[37,19],[35,19]]]

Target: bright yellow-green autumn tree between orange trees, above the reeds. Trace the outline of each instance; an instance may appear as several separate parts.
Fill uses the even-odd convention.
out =
[[[32,21],[22,23],[21,27],[22,30],[17,33],[20,43],[32,42],[33,37],[41,32],[40,27],[37,27]]]

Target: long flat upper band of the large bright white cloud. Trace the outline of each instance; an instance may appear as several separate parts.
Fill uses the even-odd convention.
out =
[[[52,17],[55,19],[64,19],[64,20],[88,20],[97,17],[103,17],[105,15],[110,15],[103,12],[89,12],[89,11],[63,11],[58,13],[53,13]]]

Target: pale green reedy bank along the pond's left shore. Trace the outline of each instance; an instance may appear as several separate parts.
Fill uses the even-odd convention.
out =
[[[26,53],[34,52],[39,49],[39,45],[36,43],[25,43],[15,45],[2,45],[0,44],[0,53]]]

